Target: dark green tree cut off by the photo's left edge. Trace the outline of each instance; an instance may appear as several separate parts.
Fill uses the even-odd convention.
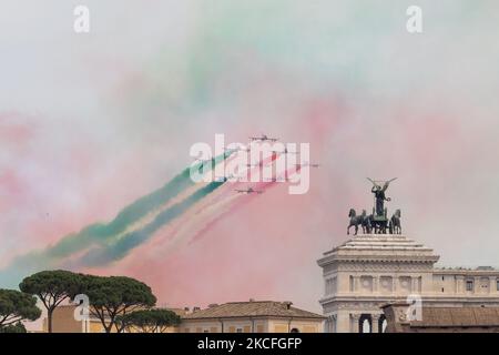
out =
[[[35,321],[40,315],[35,297],[16,290],[0,288],[0,328],[23,320]]]

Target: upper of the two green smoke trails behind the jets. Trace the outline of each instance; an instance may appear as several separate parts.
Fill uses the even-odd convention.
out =
[[[234,153],[234,151],[226,151],[225,153],[215,156],[210,162],[200,162],[195,164],[192,169],[197,169],[203,171],[203,173],[206,173],[214,169],[214,166],[216,166],[220,162],[231,156],[232,153]],[[147,213],[154,211],[161,205],[164,205],[171,199],[175,197],[187,187],[194,185],[194,182],[191,180],[190,172],[191,168],[185,169],[163,187],[136,200],[129,206],[121,210],[116,217],[106,224],[95,223],[89,225],[79,233],[64,236],[52,246],[16,257],[6,268],[0,271],[0,286],[17,286],[22,277],[30,273],[58,267],[61,260],[64,257],[95,245],[109,244],[120,233],[124,232],[129,226],[143,219]],[[166,211],[164,211],[164,213],[166,213]],[[134,239],[129,241],[133,240]]]

